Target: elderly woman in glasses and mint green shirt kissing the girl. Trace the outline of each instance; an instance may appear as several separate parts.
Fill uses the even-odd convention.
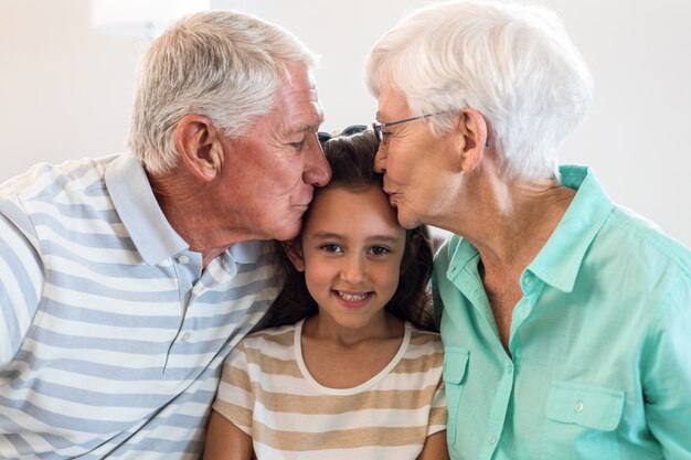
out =
[[[559,167],[592,99],[559,20],[464,1],[374,46],[376,168],[435,260],[455,459],[691,458],[691,253]]]

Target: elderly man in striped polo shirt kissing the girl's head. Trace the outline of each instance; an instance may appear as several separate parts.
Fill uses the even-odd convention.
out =
[[[330,169],[311,53],[233,12],[140,69],[130,153],[0,185],[0,458],[199,457],[221,364]]]

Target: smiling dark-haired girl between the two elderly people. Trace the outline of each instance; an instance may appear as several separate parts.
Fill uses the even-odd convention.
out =
[[[272,328],[226,360],[205,460],[448,459],[429,238],[398,225],[376,148],[326,142],[333,178],[286,247]]]

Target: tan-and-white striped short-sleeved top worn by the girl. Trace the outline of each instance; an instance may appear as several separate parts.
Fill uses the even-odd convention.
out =
[[[213,408],[252,437],[257,458],[414,460],[446,429],[439,334],[406,322],[389,365],[357,387],[329,388],[302,360],[302,324],[248,335],[224,365]]]

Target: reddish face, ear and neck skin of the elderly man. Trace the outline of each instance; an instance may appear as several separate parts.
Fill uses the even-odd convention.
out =
[[[208,118],[185,117],[177,132],[182,161],[170,174],[150,175],[161,210],[204,266],[233,243],[295,237],[313,186],[330,179],[316,136],[323,113],[313,77],[291,72],[293,84],[284,82],[253,136],[230,139]]]

